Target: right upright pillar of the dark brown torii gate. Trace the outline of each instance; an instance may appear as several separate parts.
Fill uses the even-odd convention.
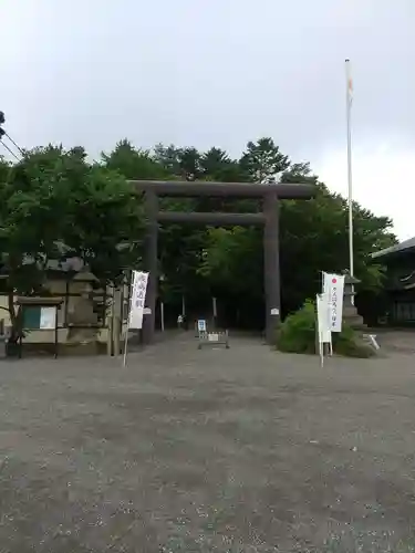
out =
[[[278,323],[280,322],[280,246],[279,246],[279,206],[276,191],[269,191],[263,198],[263,278],[266,295],[266,340],[274,344]]]

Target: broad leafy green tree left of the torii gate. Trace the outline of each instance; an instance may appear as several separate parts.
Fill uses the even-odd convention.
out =
[[[141,211],[118,174],[89,165],[82,148],[49,146],[27,153],[0,188],[3,289],[13,327],[15,295],[44,293],[52,260],[81,258],[102,282],[116,282],[137,263]]]

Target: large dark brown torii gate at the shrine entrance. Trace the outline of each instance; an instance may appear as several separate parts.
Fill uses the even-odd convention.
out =
[[[266,337],[274,341],[276,326],[280,321],[280,257],[279,257],[279,200],[310,199],[315,195],[313,185],[303,184],[245,184],[205,181],[158,181],[132,180],[137,191],[145,195],[147,218],[144,268],[149,272],[146,307],[149,313],[143,323],[143,342],[149,344],[155,334],[155,307],[157,299],[157,234],[158,223],[183,222],[196,225],[263,225],[264,295],[266,295]],[[262,199],[262,212],[220,213],[220,212],[177,212],[159,211],[160,197],[226,197]]]

